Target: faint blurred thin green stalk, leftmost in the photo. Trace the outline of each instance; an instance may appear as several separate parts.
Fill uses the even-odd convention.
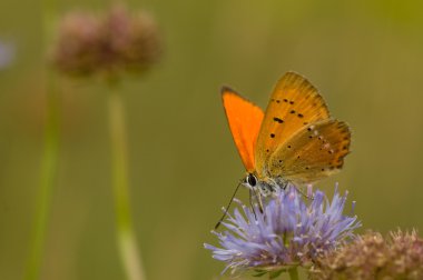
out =
[[[43,59],[47,57],[47,48],[51,38],[53,26],[53,1],[42,1],[42,33],[43,33]],[[40,182],[37,194],[36,218],[31,237],[30,254],[28,258],[24,279],[37,280],[40,278],[42,264],[42,251],[48,228],[50,200],[52,196],[55,179],[57,174],[58,151],[59,151],[59,98],[55,87],[55,76],[46,67],[45,90],[46,90],[46,124],[45,143],[41,158]]]

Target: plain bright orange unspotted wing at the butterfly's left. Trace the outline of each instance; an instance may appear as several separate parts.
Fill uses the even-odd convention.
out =
[[[224,87],[222,98],[236,148],[248,172],[255,170],[254,151],[264,112],[234,90]]]

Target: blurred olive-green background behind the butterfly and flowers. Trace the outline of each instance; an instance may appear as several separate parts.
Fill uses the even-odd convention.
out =
[[[53,2],[58,17],[111,3]],[[219,89],[232,86],[265,107],[288,70],[307,77],[353,130],[344,170],[318,187],[332,196],[340,182],[350,191],[361,232],[423,228],[422,1],[128,0],[127,7],[154,14],[164,44],[158,64],[120,87],[147,279],[218,279],[224,263],[203,243],[216,244],[209,231],[244,176]],[[37,207],[46,121],[41,8],[0,2],[0,42],[11,46],[0,68],[0,279],[22,279]],[[59,97],[58,177],[41,279],[125,279],[107,89],[99,79],[62,78]]]

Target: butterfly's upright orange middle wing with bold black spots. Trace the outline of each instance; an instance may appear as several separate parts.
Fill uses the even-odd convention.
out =
[[[278,147],[286,146],[297,131],[329,118],[327,107],[302,76],[287,72],[277,82],[266,109],[255,150],[259,176],[268,173],[268,160]]]

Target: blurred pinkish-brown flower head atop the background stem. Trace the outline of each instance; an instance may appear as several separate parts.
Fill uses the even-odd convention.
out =
[[[153,18],[112,7],[107,14],[70,12],[59,30],[53,63],[61,72],[81,76],[141,72],[160,54],[158,30]]]

